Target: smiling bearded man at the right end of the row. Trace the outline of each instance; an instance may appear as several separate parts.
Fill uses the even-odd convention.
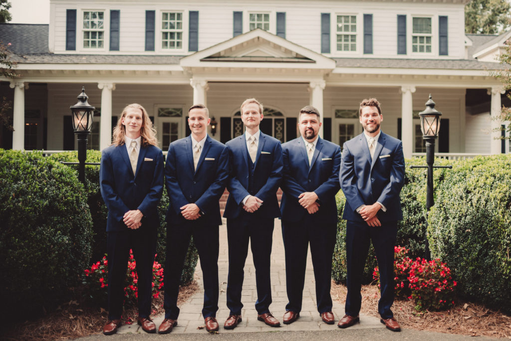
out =
[[[347,295],[339,328],[359,321],[364,263],[373,242],[380,270],[378,313],[387,329],[400,331],[390,307],[394,301],[394,246],[398,220],[403,218],[399,193],[404,183],[403,144],[380,130],[383,120],[376,99],[360,103],[364,132],[344,142],[340,183],[346,204]]]

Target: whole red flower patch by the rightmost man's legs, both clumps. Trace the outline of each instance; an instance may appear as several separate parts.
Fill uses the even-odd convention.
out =
[[[454,305],[456,281],[451,270],[439,259],[410,259],[406,248],[394,247],[394,281],[397,297],[413,299],[416,310],[442,310]],[[375,267],[373,278],[380,286],[380,273]]]

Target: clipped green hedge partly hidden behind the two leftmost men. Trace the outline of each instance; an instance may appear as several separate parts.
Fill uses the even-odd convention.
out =
[[[63,152],[54,154],[50,157],[51,159],[63,162],[78,162],[78,153]],[[95,150],[87,151],[86,162],[100,162],[101,152]],[[69,167],[78,169],[78,166],[70,165]],[[99,166],[87,165],[85,166],[85,182],[88,190],[88,205],[90,207],[90,213],[92,215],[92,221],[94,223],[94,243],[92,245],[92,262],[96,262],[103,258],[106,252],[106,217],[108,210],[101,197],[100,185],[99,185]],[[157,231],[156,239],[156,261],[162,266],[165,266],[165,250],[167,241],[167,223],[165,217],[167,209],[169,207],[169,197],[167,191],[164,190],[161,196],[161,201],[158,206],[158,214],[160,218],[160,227]],[[184,262],[183,272],[181,274],[181,284],[188,284],[193,280],[195,272],[195,266],[197,265],[198,253],[193,244],[193,240],[190,243],[191,247],[188,250],[187,258]]]

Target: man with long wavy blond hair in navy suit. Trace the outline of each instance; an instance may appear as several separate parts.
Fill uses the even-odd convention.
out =
[[[152,265],[159,224],[157,206],[164,187],[164,158],[146,109],[124,108],[113,131],[112,144],[101,155],[101,196],[108,208],[108,322],[103,334],[121,325],[124,281],[129,251],[138,275],[138,324],[156,332],[151,321]]]

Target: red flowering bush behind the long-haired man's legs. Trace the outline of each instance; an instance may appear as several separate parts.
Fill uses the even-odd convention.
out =
[[[156,257],[156,255],[155,255]],[[126,271],[126,283],[124,287],[124,304],[136,305],[138,298],[138,275],[136,273],[136,262],[133,252],[129,251],[128,269]],[[108,287],[108,261],[106,255],[101,261],[98,261],[85,269],[85,284],[89,285],[90,298],[98,299],[103,302],[107,297]],[[152,279],[152,296],[159,297],[159,290],[163,287],[163,269],[161,265],[154,261],[153,263],[153,279]]]

